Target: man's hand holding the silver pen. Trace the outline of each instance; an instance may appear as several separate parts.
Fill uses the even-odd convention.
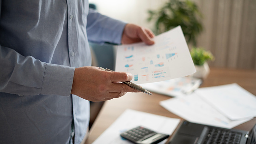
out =
[[[94,66],[79,67],[74,72],[71,94],[98,102],[121,97],[126,92],[140,92],[118,83],[131,80],[132,75],[128,72],[103,71]]]

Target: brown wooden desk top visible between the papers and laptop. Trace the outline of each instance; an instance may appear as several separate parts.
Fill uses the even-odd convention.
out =
[[[237,83],[245,90],[256,95],[255,70],[211,68],[209,76],[204,80],[201,87],[231,83]],[[85,144],[91,144],[97,139],[127,108],[182,119],[159,105],[160,101],[170,98],[170,96],[159,95],[156,93],[153,93],[152,96],[144,93],[127,93],[125,96],[118,99],[112,99],[105,102],[97,119],[91,127],[90,135]],[[235,128],[249,131],[255,124],[256,118]]]

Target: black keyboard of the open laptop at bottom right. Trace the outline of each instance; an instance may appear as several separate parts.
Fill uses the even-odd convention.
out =
[[[210,128],[202,144],[239,144],[241,133]]]

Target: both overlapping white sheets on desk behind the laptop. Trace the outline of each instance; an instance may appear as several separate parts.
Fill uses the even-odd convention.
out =
[[[160,105],[185,120],[225,128],[256,116],[256,96],[238,84],[199,88],[189,96],[171,98]]]

